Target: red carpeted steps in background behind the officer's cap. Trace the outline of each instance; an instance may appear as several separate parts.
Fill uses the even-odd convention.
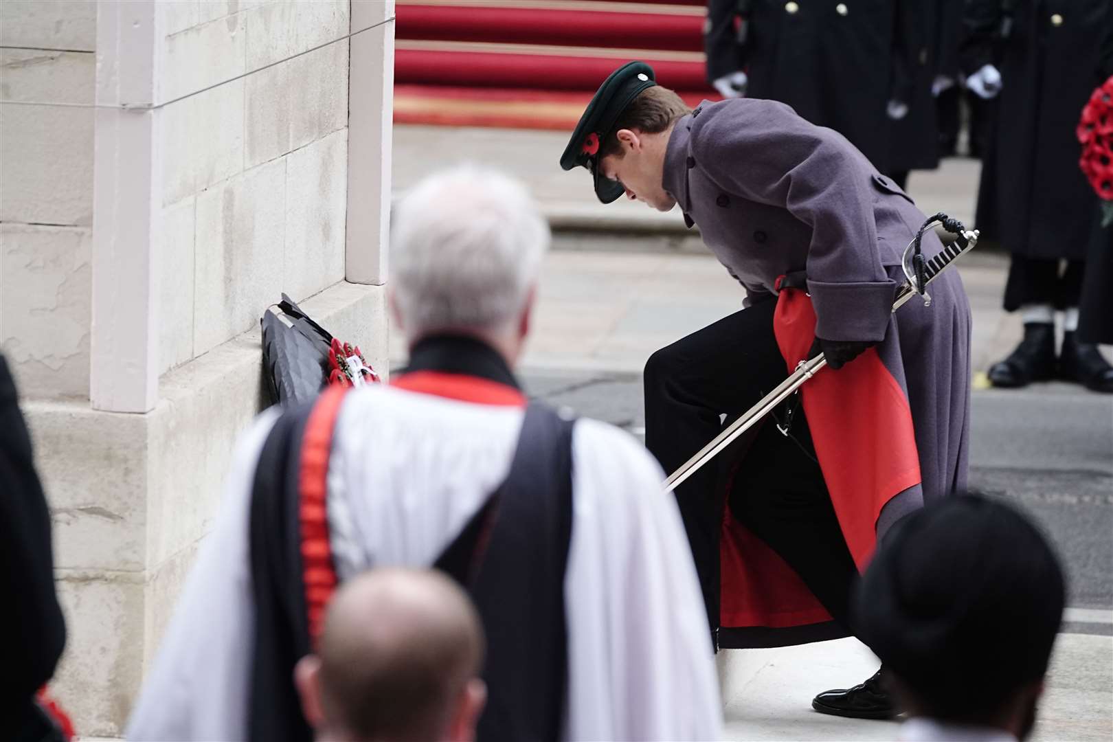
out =
[[[631,59],[689,103],[705,81],[702,0],[400,0],[394,120],[570,129]]]

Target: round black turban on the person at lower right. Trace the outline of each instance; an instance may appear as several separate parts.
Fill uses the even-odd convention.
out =
[[[992,711],[1047,671],[1063,571],[1012,507],[955,495],[906,516],[858,584],[855,633],[933,714]]]

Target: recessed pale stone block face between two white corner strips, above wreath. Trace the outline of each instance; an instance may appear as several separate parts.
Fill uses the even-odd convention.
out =
[[[161,111],[165,372],[344,278],[349,6],[160,7],[164,100],[274,65]]]

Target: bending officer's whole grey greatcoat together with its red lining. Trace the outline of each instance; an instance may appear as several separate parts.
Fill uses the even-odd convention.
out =
[[[686,222],[699,225],[705,244],[746,288],[748,303],[780,294],[775,329],[786,374],[812,334],[879,342],[876,355],[864,356],[867,363],[826,379],[820,373],[804,387],[831,501],[847,545],[864,565],[874,540],[896,520],[966,483],[971,316],[957,271],[932,284],[930,307],[914,299],[894,314],[900,256],[924,214],[846,138],[780,102],[705,101],[670,135],[663,186]],[[942,249],[934,233],[925,235],[924,249],[928,255]],[[778,277],[797,271],[807,273],[810,300],[794,290],[786,303],[789,293],[778,291]],[[807,324],[795,340],[782,342],[780,319],[796,321],[798,329]],[[869,364],[877,373],[857,378],[851,367]],[[846,402],[851,398],[861,404]],[[890,416],[904,417],[905,438],[870,439],[873,432],[900,427],[899,421],[896,428],[883,424],[880,418]],[[861,437],[846,435],[851,428]],[[863,486],[841,486],[848,476]],[[723,548],[730,543],[725,531]],[[721,561],[723,629],[745,627],[727,615],[731,575],[747,582],[729,565],[741,572],[756,566],[736,557]],[[798,595],[774,593],[758,595],[768,605],[747,606],[747,615],[774,629],[800,627],[794,616],[814,615],[800,607]]]

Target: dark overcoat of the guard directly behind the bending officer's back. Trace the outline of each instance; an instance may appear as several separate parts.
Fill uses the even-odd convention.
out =
[[[908,100],[902,8],[913,0],[750,0],[733,32],[738,0],[710,0],[705,33],[708,78],[749,76],[747,97],[779,100],[812,123],[843,133],[889,170],[886,106]]]

